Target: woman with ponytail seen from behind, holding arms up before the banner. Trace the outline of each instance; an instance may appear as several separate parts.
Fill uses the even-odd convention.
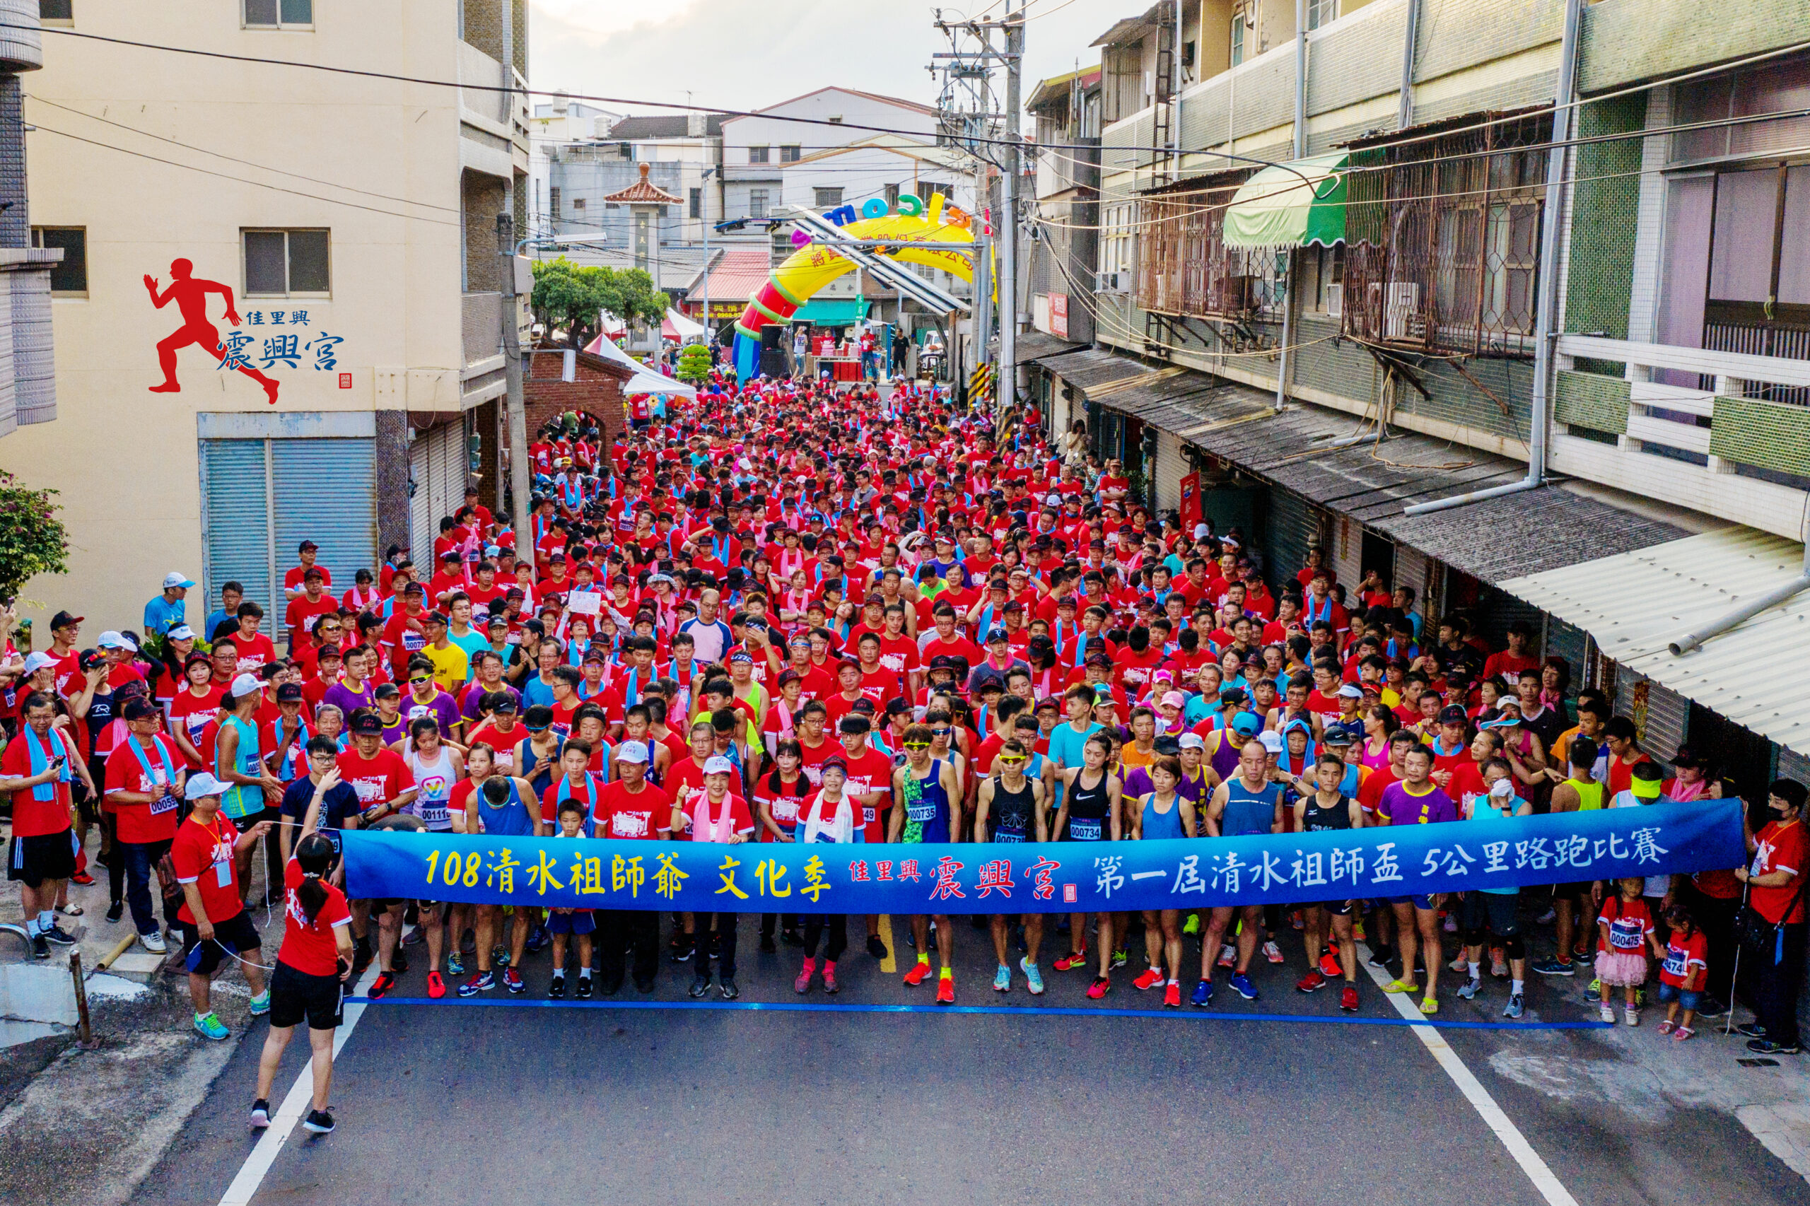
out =
[[[351,911],[346,893],[331,884],[337,875],[333,844],[315,833],[320,824],[320,795],[308,806],[302,840],[295,844],[282,875],[284,929],[277,951],[277,971],[270,976],[270,1034],[257,1063],[257,1101],[252,1126],[270,1126],[270,1088],[282,1063],[282,1050],[300,1021],[308,1021],[308,1047],[313,1052],[313,1108],[302,1121],[310,1132],[333,1130],[328,1090],[333,1086],[333,1032],[340,1025],[344,983],[351,974]]]

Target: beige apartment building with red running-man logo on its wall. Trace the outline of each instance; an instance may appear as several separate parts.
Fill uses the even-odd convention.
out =
[[[270,625],[300,540],[342,592],[469,478],[496,505],[527,0],[60,11],[25,89],[60,422],[0,464],[62,491],[72,549],[27,614],[138,628],[176,569],[192,623],[233,579]]]

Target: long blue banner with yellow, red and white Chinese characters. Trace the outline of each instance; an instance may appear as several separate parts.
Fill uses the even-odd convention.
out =
[[[1095,913],[1738,867],[1738,800],[1153,842],[834,846],[357,833],[346,895],[713,913]]]

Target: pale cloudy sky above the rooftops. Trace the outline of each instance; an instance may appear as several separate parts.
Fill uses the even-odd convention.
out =
[[[954,20],[988,0],[945,7]],[[936,101],[925,72],[948,49],[923,0],[530,0],[536,89],[760,109],[840,83]],[[1135,0],[1030,0],[1024,92],[1099,62],[1088,43]],[[988,16],[1003,11],[994,7]],[[1039,16],[1048,13],[1048,16]],[[610,105],[605,105],[606,109]],[[650,110],[635,107],[635,110]],[[670,112],[670,110],[668,110]]]

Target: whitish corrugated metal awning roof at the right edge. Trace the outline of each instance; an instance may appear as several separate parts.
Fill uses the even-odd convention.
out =
[[[1629,670],[1810,753],[1810,592],[1683,657],[1667,648],[1790,581],[1803,565],[1797,541],[1743,527],[1511,578],[1502,589],[1584,628]]]

